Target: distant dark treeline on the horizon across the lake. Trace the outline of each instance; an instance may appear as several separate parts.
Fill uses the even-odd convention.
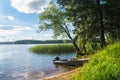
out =
[[[54,44],[54,43],[71,43],[70,40],[18,40],[15,42],[0,42],[0,44]]]

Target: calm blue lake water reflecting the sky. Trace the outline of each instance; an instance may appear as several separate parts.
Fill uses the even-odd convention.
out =
[[[0,80],[38,80],[68,71],[71,67],[56,66],[56,57],[74,58],[75,53],[36,54],[29,51],[34,45],[0,45]]]

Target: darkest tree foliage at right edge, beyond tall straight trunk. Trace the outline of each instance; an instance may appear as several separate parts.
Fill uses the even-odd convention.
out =
[[[104,25],[110,42],[120,40],[120,0],[104,0]]]

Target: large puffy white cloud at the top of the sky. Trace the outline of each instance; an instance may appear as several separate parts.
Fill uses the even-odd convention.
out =
[[[51,0],[11,0],[11,6],[23,13],[41,13]]]

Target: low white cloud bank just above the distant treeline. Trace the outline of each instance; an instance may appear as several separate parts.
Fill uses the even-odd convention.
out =
[[[37,33],[33,26],[20,25],[0,25],[0,41],[16,41],[16,40],[50,40],[52,32]]]

